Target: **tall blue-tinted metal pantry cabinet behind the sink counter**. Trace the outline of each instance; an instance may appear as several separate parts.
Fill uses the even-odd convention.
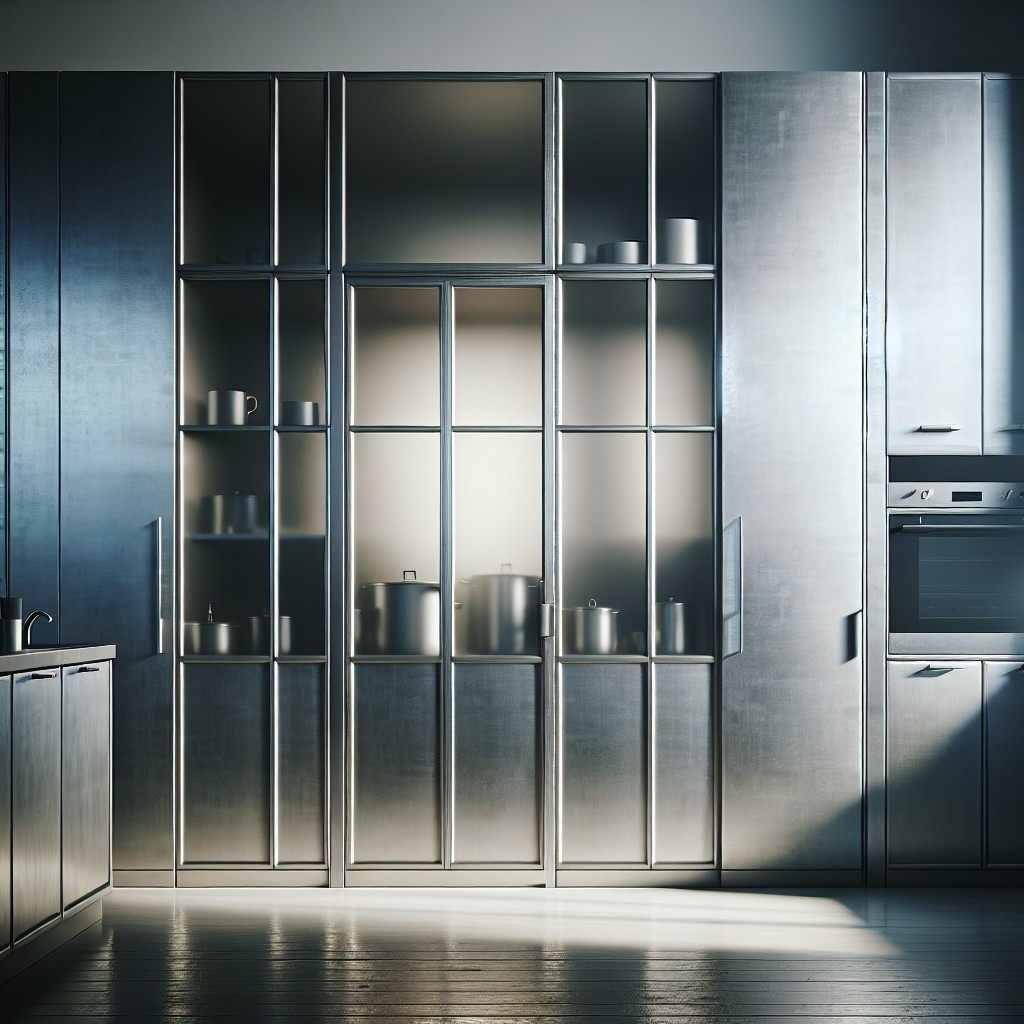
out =
[[[8,593],[117,645],[115,880],[173,882],[174,76],[7,76]]]

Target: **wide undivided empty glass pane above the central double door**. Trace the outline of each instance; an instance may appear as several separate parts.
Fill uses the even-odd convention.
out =
[[[346,263],[545,261],[541,79],[346,81]]]

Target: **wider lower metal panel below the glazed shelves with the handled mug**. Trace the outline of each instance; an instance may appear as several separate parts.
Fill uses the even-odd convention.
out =
[[[270,863],[270,672],[186,665],[181,865]]]

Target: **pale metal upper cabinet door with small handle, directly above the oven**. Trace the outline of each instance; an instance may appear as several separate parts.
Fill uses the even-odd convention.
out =
[[[889,454],[980,455],[981,77],[891,78],[887,138]]]

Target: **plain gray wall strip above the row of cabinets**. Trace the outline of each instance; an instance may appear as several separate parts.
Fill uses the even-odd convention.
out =
[[[0,69],[986,70],[1020,0],[0,0]]]

